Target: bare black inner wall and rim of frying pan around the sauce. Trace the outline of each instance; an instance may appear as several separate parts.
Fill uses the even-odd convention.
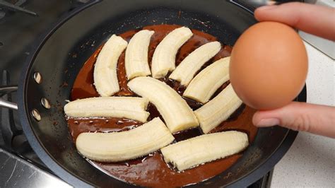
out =
[[[234,45],[256,20],[247,8],[223,0],[93,1],[61,18],[30,53],[18,90],[20,121],[37,155],[66,182],[76,187],[131,186],[94,168],[77,153],[62,109],[81,66],[110,35],[160,23],[186,25]],[[42,77],[40,83],[37,73]],[[43,107],[42,98],[51,102],[51,108]],[[296,100],[306,100],[305,88]],[[245,187],[274,168],[296,134],[282,127],[259,129],[254,143],[235,165],[192,186]]]

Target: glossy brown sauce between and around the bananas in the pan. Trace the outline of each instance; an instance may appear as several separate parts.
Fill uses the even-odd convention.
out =
[[[151,44],[149,46],[149,55],[148,60],[151,64],[151,58],[153,52],[158,43],[163,40],[163,37],[170,33],[175,28],[178,28],[178,25],[151,25],[146,26],[143,29],[154,30],[155,34],[151,37]],[[131,30],[126,33],[122,33],[121,37],[129,41],[130,38],[139,30]],[[176,57],[176,66],[187,57],[187,55],[192,52],[197,47],[204,45],[206,42],[216,41],[216,37],[212,35],[202,33],[198,30],[192,30],[194,33],[193,37],[188,40],[177,53]],[[76,100],[79,98],[90,98],[98,97],[93,86],[93,68],[96,57],[100,52],[101,47],[99,47],[96,52],[86,61],[86,64],[83,65],[83,68],[79,72],[74,87],[71,92],[71,100]],[[230,55],[231,47],[223,45],[221,51],[216,54],[213,59],[208,61],[204,67],[211,64],[213,61],[227,57]],[[204,67],[202,69],[204,69]],[[119,58],[117,66],[117,74],[119,78],[119,86],[121,90],[116,95],[135,95],[127,87],[127,78],[124,68],[124,52]],[[184,86],[180,86],[177,81],[172,81],[170,79],[160,79],[165,81],[169,86],[177,90],[180,95],[185,90]],[[223,84],[223,86],[218,89],[215,95],[217,95],[228,83]],[[214,95],[214,96],[215,96]],[[197,109],[201,107],[199,102],[193,100],[185,99],[189,103],[189,106],[192,109]],[[149,104],[148,112],[150,112],[150,119],[153,117],[160,117],[159,112],[156,110],[155,106]],[[257,134],[257,128],[252,125],[252,114],[254,110],[245,105],[242,105],[232,116],[225,122],[222,122],[221,125],[213,129],[215,131],[224,131],[224,130],[239,130],[245,131],[249,135],[249,141],[253,141],[254,136]],[[78,134],[87,131],[125,131],[131,129],[132,127],[140,126],[141,123],[136,122],[130,119],[119,119],[119,118],[105,118],[105,119],[69,119],[68,120],[69,129],[73,140],[76,141]],[[174,134],[176,141],[182,141],[184,139],[189,139],[194,136],[199,136],[201,134],[200,129],[190,129],[187,131],[182,131],[180,133]],[[127,138],[124,138],[127,139]],[[242,153],[232,155],[228,158],[223,158],[220,160],[213,161],[211,163],[206,163],[204,165],[199,165],[196,168],[185,170],[184,172],[177,172],[170,168],[163,160],[163,155],[159,151],[151,153],[142,158],[135,160],[128,160],[120,163],[98,163],[93,162],[95,165],[98,165],[100,169],[107,172],[108,174],[116,177],[119,180],[124,180],[131,184],[137,184],[147,187],[181,187],[187,184],[194,184],[196,182],[201,182],[211,178],[219,173],[227,170],[231,165],[233,165],[238,158],[242,156]]]

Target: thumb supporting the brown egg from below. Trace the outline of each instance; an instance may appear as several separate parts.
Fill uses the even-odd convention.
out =
[[[291,102],[276,110],[258,111],[252,122],[257,127],[276,124],[296,131],[308,131],[335,138],[335,107]]]

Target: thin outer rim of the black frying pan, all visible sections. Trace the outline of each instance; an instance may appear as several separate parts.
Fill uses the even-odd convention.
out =
[[[52,25],[49,30],[46,31],[45,35],[41,35],[38,40],[36,40],[35,45],[33,45],[32,50],[30,50],[30,56],[26,59],[25,65],[23,68],[23,71],[21,71],[20,75],[20,82],[18,87],[18,112],[20,117],[20,122],[25,125],[23,126],[23,131],[27,135],[27,139],[34,149],[35,153],[37,153],[37,156],[43,161],[43,163],[47,164],[49,168],[52,169],[52,171],[57,174],[59,177],[61,177],[62,180],[65,180],[68,183],[71,183],[72,185],[76,187],[91,187],[92,184],[88,183],[87,180],[83,180],[83,178],[78,177],[73,172],[70,172],[68,170],[65,170],[64,168],[61,168],[61,164],[57,162],[49,153],[47,152],[47,149],[40,144],[40,139],[37,138],[35,131],[33,131],[32,127],[30,126],[31,119],[30,113],[28,110],[28,105],[25,105],[26,100],[26,91],[27,91],[27,85],[28,85],[28,79],[29,79],[29,73],[31,71],[32,62],[35,61],[35,58],[37,57],[37,54],[40,52],[40,49],[45,45],[45,42],[49,39],[49,37],[52,36],[52,34],[59,28],[61,25],[66,23],[67,20],[72,18],[73,16],[76,16],[77,13],[85,10],[86,8],[93,6],[94,4],[97,4],[101,0],[93,0],[90,1],[90,3],[81,6],[79,8],[74,9],[74,11],[71,11],[69,14],[64,15],[62,18],[59,18],[57,22]],[[244,11],[247,11],[245,7],[241,7]],[[247,11],[250,13],[251,11]],[[251,13],[252,14],[252,13]],[[305,89],[305,88],[304,88]],[[305,93],[302,94],[302,98],[305,98]],[[300,101],[306,101],[306,100],[300,100]],[[250,182],[254,182],[259,179],[259,174],[264,175],[266,172],[269,172],[271,168],[274,167],[274,164],[278,163],[278,161],[283,157],[283,155],[288,151],[290,146],[292,145],[295,136],[297,136],[297,131],[289,130],[287,131],[287,134],[281,144],[274,150],[271,155],[269,155],[268,158],[264,161],[264,163],[261,163],[257,165],[257,168],[254,168],[253,171],[250,171],[243,177],[238,178],[237,180],[234,180],[230,184],[228,184],[228,187],[235,187],[235,186],[247,186]],[[286,143],[286,144],[283,144]],[[252,181],[253,180],[253,181]],[[127,184],[126,182],[121,181],[124,184]],[[206,181],[204,181],[206,182]],[[199,184],[193,184],[193,186],[200,186]],[[133,186],[132,184],[127,184],[127,186]],[[192,185],[190,185],[192,187]]]

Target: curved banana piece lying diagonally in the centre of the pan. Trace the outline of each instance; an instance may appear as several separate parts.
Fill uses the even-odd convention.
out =
[[[178,93],[166,83],[151,77],[136,77],[129,81],[129,88],[157,107],[172,133],[199,125],[194,112]]]

